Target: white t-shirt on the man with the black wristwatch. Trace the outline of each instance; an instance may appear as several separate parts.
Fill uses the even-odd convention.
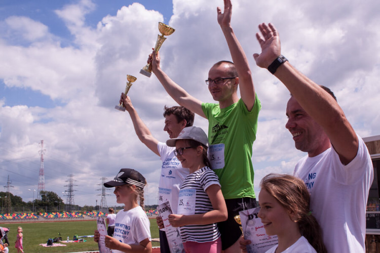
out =
[[[356,157],[343,165],[333,148],[303,157],[294,176],[305,181],[311,209],[328,252],[365,252],[365,210],[373,181],[371,157],[359,139]]]

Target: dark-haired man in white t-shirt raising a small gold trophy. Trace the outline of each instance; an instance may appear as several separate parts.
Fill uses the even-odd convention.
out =
[[[122,93],[120,97],[120,103],[124,105],[126,111],[128,111],[131,116],[137,137],[146,147],[161,158],[159,204],[169,200],[173,213],[177,213],[179,187],[189,173],[188,168],[182,168],[181,162],[174,155],[173,150],[175,147],[169,147],[166,143],[159,142],[151,135],[149,129],[133,107],[130,98],[124,93]],[[164,117],[164,131],[169,134],[170,138],[178,137],[182,129],[186,126],[192,126],[194,122],[194,112],[183,106],[173,106],[169,108],[165,106]],[[162,253],[170,253],[164,225],[160,217],[157,218],[157,224],[160,227],[160,250]]]

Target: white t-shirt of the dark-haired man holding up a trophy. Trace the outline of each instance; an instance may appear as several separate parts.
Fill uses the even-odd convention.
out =
[[[169,200],[173,214],[177,214],[179,187],[189,174],[189,170],[182,168],[181,162],[174,155],[175,147],[169,147],[166,143],[159,142],[157,148],[162,161],[159,204]]]

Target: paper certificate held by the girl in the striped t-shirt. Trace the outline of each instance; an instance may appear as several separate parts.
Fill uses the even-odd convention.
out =
[[[171,253],[184,253],[181,233],[179,228],[175,228],[169,223],[169,215],[173,214],[169,201],[159,204],[158,212],[162,221],[164,222],[165,233],[168,239],[169,248]]]

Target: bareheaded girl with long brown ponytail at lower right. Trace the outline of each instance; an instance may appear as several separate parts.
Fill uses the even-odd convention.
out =
[[[265,253],[327,252],[322,230],[311,214],[310,193],[305,183],[290,175],[269,174],[260,183],[258,217],[278,245]]]

